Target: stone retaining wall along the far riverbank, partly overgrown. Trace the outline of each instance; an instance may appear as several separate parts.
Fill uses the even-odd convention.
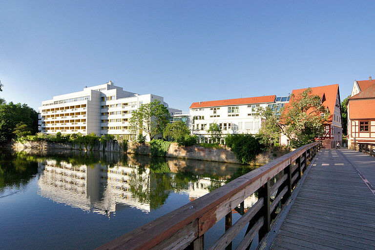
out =
[[[126,154],[151,155],[151,148],[148,143],[104,141],[95,145],[74,144],[72,142],[56,143],[50,141],[26,141],[13,142],[10,145],[16,151],[47,151],[47,150],[81,150],[81,151],[99,151],[116,152]],[[261,166],[277,157],[289,153],[288,148],[268,148],[265,152],[257,154],[255,159],[248,165]],[[219,148],[208,148],[199,145],[179,146],[177,143],[171,143],[166,151],[166,157],[179,159],[203,160],[211,162],[224,162],[240,164],[236,155],[226,146]]]

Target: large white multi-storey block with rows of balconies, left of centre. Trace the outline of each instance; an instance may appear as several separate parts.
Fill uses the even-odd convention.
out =
[[[165,105],[171,115],[181,112],[168,108],[162,96],[138,95],[124,91],[111,81],[85,87],[80,92],[42,101],[42,107],[39,108],[39,130],[47,134],[95,133],[115,135],[118,139],[132,139],[134,135],[129,125],[132,111],[154,100]]]

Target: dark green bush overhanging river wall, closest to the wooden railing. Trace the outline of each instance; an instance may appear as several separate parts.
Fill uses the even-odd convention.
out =
[[[227,135],[225,141],[242,164],[249,163],[266,148],[259,135]]]

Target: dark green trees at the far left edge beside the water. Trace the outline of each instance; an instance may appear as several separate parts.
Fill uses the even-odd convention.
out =
[[[0,104],[0,143],[7,143],[16,136],[17,124],[23,123],[27,126],[21,128],[30,131],[31,134],[38,132],[38,113],[27,106],[27,104],[13,102]]]

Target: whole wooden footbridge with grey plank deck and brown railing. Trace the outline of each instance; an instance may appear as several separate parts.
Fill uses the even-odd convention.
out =
[[[315,142],[97,250],[375,249],[374,169],[372,156],[320,150]],[[244,200],[254,192],[258,201],[244,212]],[[242,214],[234,224],[233,210]],[[224,217],[225,233],[205,247],[205,232]]]

